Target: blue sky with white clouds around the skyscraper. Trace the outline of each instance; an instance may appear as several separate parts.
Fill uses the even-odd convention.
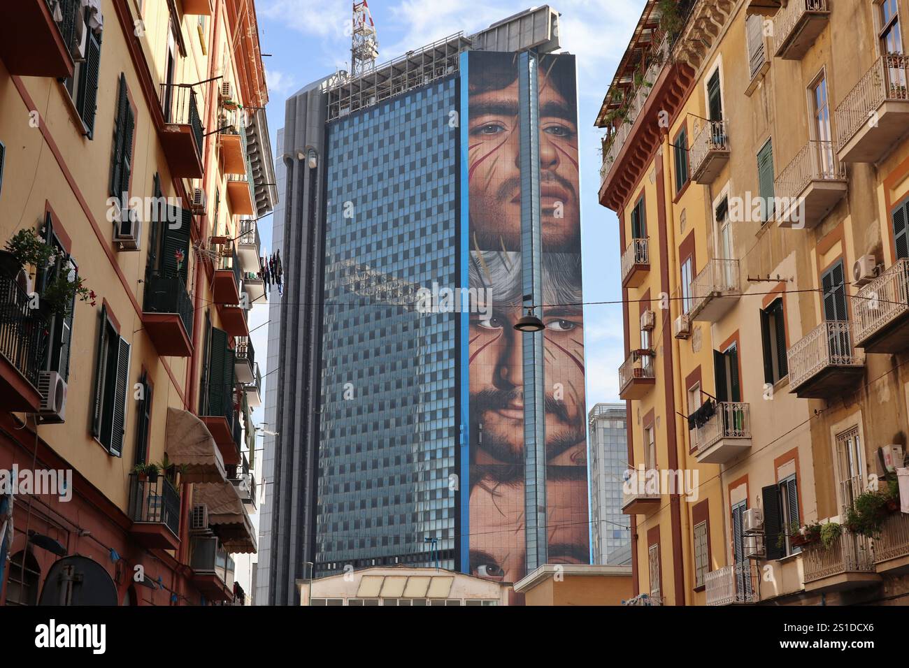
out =
[[[577,55],[585,302],[621,298],[616,219],[596,201],[602,131],[594,127],[594,119],[643,5],[644,0],[552,3],[562,14],[563,50]],[[349,33],[351,6],[351,0],[256,0],[262,51],[271,54],[264,60],[273,145],[277,129],[284,125],[286,97],[338,68],[349,69],[350,38],[345,32]],[[384,62],[459,30],[474,33],[538,5],[529,0],[370,0],[369,6],[378,33],[379,62]],[[262,223],[263,243],[271,251],[271,218]],[[266,308],[255,309],[250,326],[265,323],[267,317]],[[253,336],[265,359],[266,327]],[[621,305],[586,306],[584,340],[588,407],[616,401],[623,361]],[[256,413],[255,420],[261,422],[264,414],[261,409]]]

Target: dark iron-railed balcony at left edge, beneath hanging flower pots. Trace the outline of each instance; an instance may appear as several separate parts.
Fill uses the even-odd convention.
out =
[[[29,301],[14,278],[0,274],[0,406],[11,412],[36,413],[41,406],[38,372],[47,325]]]

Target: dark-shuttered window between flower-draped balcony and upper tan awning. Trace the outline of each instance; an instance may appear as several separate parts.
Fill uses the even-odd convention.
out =
[[[117,333],[114,322],[107,314],[106,304],[103,305],[95,360],[92,435],[116,457],[123,454],[129,349],[130,345]]]

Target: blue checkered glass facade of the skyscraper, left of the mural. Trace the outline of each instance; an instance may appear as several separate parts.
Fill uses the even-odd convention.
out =
[[[458,320],[415,294],[456,284],[457,108],[450,77],[327,125],[316,575],[455,566]]]

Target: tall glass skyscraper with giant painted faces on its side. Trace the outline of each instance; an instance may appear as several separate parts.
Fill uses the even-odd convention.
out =
[[[544,6],[287,101],[271,603],[349,568],[516,581],[586,563],[576,90],[557,35]],[[516,331],[526,313],[544,331]]]

